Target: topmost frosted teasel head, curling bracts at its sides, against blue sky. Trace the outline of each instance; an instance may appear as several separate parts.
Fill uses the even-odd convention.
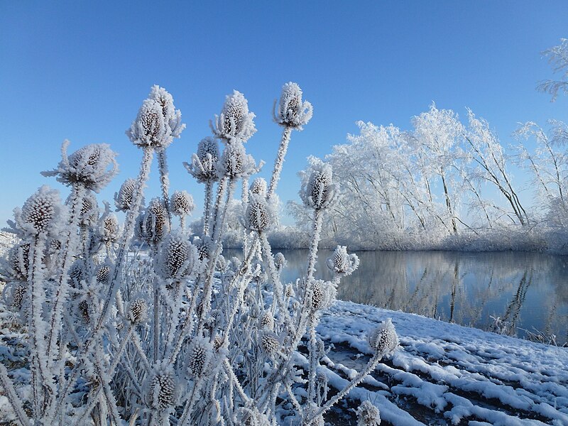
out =
[[[288,82],[282,87],[278,107],[274,103],[274,121],[281,126],[301,130],[312,118],[312,104],[302,101],[302,89],[296,83]]]

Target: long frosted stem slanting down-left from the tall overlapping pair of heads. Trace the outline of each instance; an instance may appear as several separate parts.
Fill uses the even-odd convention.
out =
[[[80,356],[77,356],[77,359],[81,359],[81,356],[86,355],[91,349],[91,345],[97,341],[99,332],[102,328],[102,324],[104,324],[107,318],[112,296],[116,293],[116,290],[118,290],[121,283],[122,271],[124,270],[124,266],[126,265],[126,253],[128,253],[129,244],[134,233],[136,216],[138,214],[138,210],[140,209],[140,204],[142,203],[144,185],[146,185],[146,181],[148,180],[148,176],[150,175],[150,166],[152,163],[153,153],[153,148],[146,147],[143,149],[143,158],[140,166],[140,173],[138,173],[136,187],[133,191],[131,209],[129,210],[128,214],[126,214],[126,222],[124,224],[124,231],[119,243],[119,251],[116,253],[116,263],[114,264],[114,268],[111,273],[111,279],[109,280],[110,285],[109,290],[107,291],[107,297],[105,297],[104,305],[101,311],[101,315],[99,315],[99,318],[97,320],[97,324],[95,324],[92,329],[91,337],[84,343],[83,349],[82,351],[80,351]],[[81,362],[78,362],[75,365],[75,368],[70,374],[70,380],[67,381],[64,391],[60,393],[60,398],[55,407],[55,413],[58,413],[59,410],[62,409],[62,404],[67,399],[70,388],[77,379],[80,364]]]

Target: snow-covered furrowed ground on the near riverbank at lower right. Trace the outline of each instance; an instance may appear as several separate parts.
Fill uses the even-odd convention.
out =
[[[567,348],[352,302],[336,302],[317,327],[334,345],[325,369],[332,391],[366,364],[366,334],[388,317],[400,349],[349,393],[348,409],[330,423],[356,425],[349,408],[368,399],[381,425],[568,425]]]

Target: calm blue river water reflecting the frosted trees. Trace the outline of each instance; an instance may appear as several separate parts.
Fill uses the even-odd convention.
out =
[[[278,250],[274,250],[274,253]],[[283,250],[283,281],[305,274],[307,250]],[[317,278],[331,275],[320,251]],[[442,251],[356,252],[359,269],[339,285],[337,298],[492,330],[493,317],[506,334],[535,329],[568,339],[568,256],[542,253]]]

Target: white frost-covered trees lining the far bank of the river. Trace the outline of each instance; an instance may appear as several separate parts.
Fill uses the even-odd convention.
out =
[[[545,52],[555,70],[564,72],[561,81],[540,84],[553,97],[568,84],[567,51],[562,40]],[[503,143],[470,109],[459,117],[432,104],[411,123],[405,131],[359,121],[359,134],[327,155],[342,185],[325,244],[568,249],[566,124],[520,124],[510,143]],[[305,208],[290,203],[289,209],[300,228],[305,226]]]

